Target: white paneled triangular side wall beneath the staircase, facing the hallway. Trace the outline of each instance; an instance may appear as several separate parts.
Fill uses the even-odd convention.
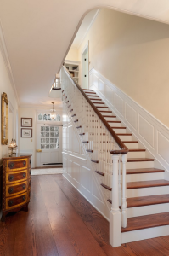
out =
[[[100,177],[95,172],[95,164],[87,158],[85,148],[67,116],[63,125],[63,170],[64,177],[109,220],[109,203],[100,190]]]

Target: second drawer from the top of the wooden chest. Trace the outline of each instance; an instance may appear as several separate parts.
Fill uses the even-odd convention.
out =
[[[7,172],[6,173],[6,184],[19,183],[27,178],[27,170],[21,172]]]

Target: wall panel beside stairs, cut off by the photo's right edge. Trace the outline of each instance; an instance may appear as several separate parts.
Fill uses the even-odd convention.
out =
[[[162,159],[169,165],[169,139],[157,131],[157,152],[161,155]]]

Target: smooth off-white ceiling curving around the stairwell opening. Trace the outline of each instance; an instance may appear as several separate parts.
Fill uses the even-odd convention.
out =
[[[109,7],[169,23],[168,0],[0,0],[8,66],[21,105],[48,102],[53,84],[82,17]]]

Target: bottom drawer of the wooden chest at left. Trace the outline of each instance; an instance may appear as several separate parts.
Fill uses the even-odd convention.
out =
[[[20,207],[21,205],[24,205],[26,201],[27,201],[27,192],[21,195],[8,197],[6,198],[6,210],[14,207]]]

